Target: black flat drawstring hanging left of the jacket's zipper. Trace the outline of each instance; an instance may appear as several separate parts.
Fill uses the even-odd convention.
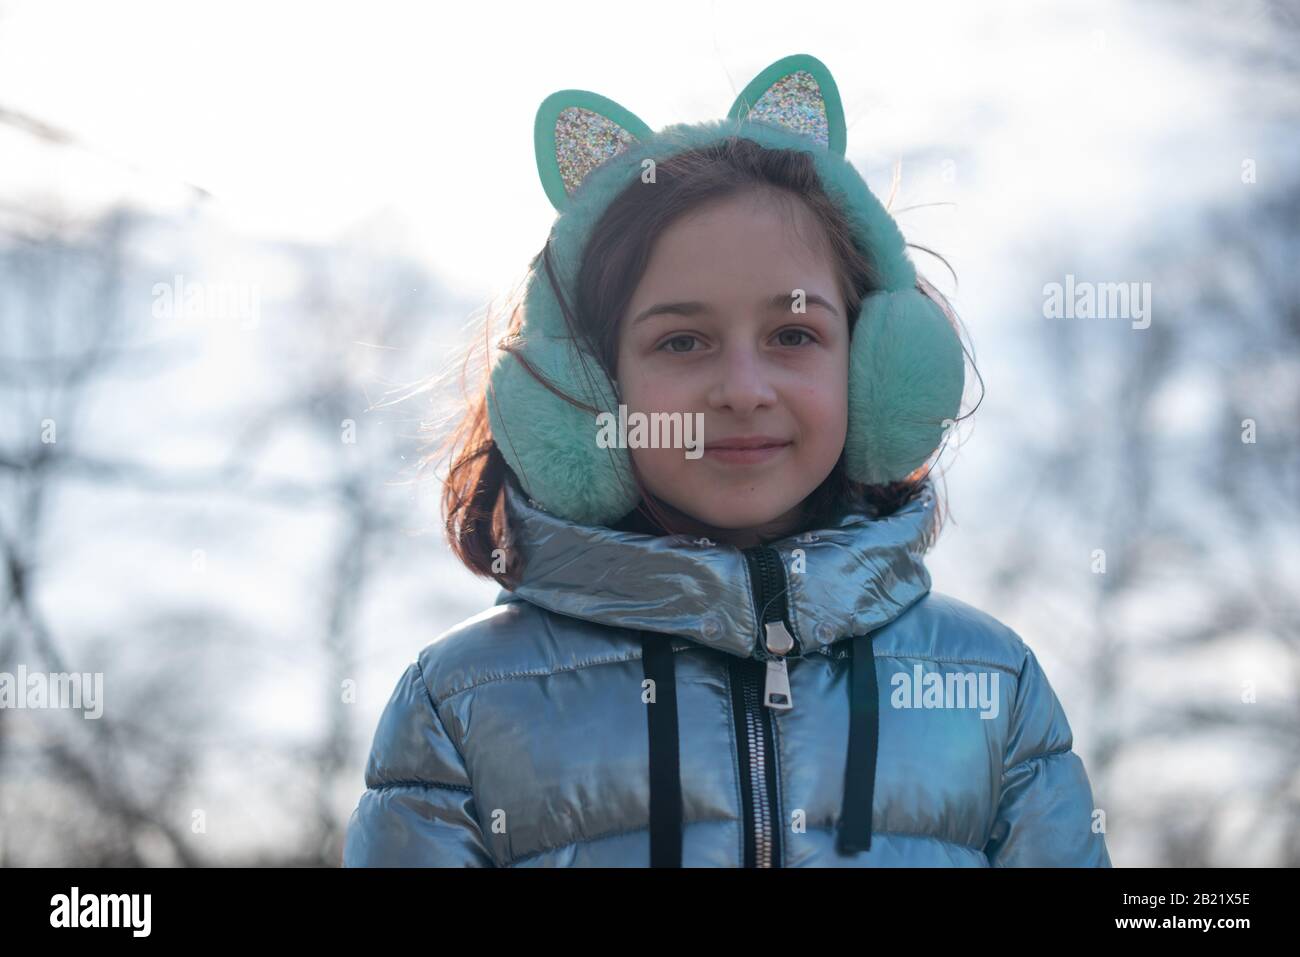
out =
[[[681,867],[681,755],[672,637],[641,632],[641,663],[654,681],[650,728],[650,866]]]

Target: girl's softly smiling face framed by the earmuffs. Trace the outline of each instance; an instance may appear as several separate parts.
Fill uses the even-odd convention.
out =
[[[820,222],[789,194],[714,200],[655,241],[619,320],[616,378],[629,415],[702,413],[701,458],[629,449],[650,492],[696,532],[746,547],[800,531],[848,430],[838,290]],[[750,460],[719,449],[750,437],[780,447]]]

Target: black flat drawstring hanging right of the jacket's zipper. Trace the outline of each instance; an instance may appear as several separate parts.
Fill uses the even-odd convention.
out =
[[[841,854],[871,850],[871,802],[880,737],[880,697],[871,636],[855,635],[849,648],[849,752],[837,843]]]

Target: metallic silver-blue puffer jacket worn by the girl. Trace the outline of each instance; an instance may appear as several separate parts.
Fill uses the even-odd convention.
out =
[[[344,866],[1110,866],[1034,653],[930,590],[930,486],[744,550],[506,494],[521,585],[402,675]]]

